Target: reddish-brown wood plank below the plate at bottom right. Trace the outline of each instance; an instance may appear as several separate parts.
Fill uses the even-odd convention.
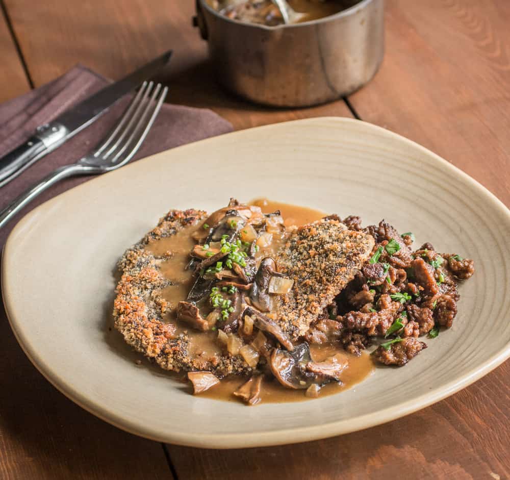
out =
[[[179,480],[508,478],[510,413],[502,379],[509,374],[507,362],[445,401],[341,437],[243,450],[167,447]]]

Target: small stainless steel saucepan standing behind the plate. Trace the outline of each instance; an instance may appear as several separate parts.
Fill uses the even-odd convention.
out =
[[[231,20],[206,0],[196,0],[196,11],[219,83],[260,104],[305,107],[348,95],[384,55],[384,0],[277,27]]]

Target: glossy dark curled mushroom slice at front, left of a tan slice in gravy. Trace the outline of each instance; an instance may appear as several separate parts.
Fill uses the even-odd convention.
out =
[[[307,389],[315,381],[313,373],[305,371],[303,365],[311,361],[308,343],[296,345],[294,351],[274,348],[269,359],[269,366],[276,380],[284,387]]]

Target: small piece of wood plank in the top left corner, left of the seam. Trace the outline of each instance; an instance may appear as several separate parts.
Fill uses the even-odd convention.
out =
[[[18,52],[12,40],[5,16],[0,9],[0,103],[30,90]]]

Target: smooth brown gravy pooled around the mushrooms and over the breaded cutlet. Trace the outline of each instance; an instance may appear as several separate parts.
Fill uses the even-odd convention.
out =
[[[304,225],[305,223],[319,220],[325,216],[324,212],[319,210],[279,203],[266,198],[252,200],[248,205],[260,207],[263,213],[272,213],[276,210],[281,211],[284,223],[287,227]],[[203,230],[202,224],[203,222],[199,225],[186,228],[171,237],[162,238],[149,243],[145,248],[155,256],[163,258],[160,271],[165,278],[171,280],[175,284],[161,291],[162,297],[170,304],[169,313],[166,314],[164,320],[175,325],[175,336],[187,332],[190,338],[190,355],[211,358],[221,355],[221,348],[216,341],[217,333],[213,331],[194,331],[189,325],[178,321],[175,316],[177,304],[180,300],[187,297],[192,286],[192,273],[190,270],[185,270],[185,267],[189,262],[189,252],[196,243],[195,240],[191,238],[191,234],[194,232],[201,232]],[[270,254],[271,250],[275,248],[274,244],[277,244],[277,239],[275,239],[273,245],[268,247],[267,250],[261,248],[260,256],[263,257]],[[165,257],[168,259],[165,260]],[[333,356],[336,353],[340,353],[340,355],[348,358],[349,361],[349,366],[342,373],[342,383],[331,382],[325,385],[321,388],[319,397],[332,395],[352,387],[364,380],[374,368],[370,355],[363,354],[359,358],[354,357],[335,345],[310,345],[310,351],[313,360],[317,362]],[[182,380],[182,374],[176,374],[175,377]],[[210,390],[201,393],[200,396],[225,401],[240,401],[239,398],[233,395],[233,392],[246,381],[247,378],[242,376],[234,375],[232,377],[227,377]],[[266,403],[312,399],[305,396],[303,390],[287,389],[276,380],[266,378],[263,380],[261,398],[262,402]]]

